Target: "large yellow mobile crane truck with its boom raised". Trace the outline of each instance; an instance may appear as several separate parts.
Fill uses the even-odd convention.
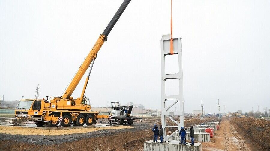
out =
[[[15,110],[15,117],[24,120],[35,121],[36,125],[42,126],[47,123],[49,126],[57,126],[60,121],[62,126],[69,126],[71,122],[74,125],[92,125],[96,120],[109,118],[109,115],[99,115],[99,112],[91,111],[90,100],[85,96],[85,89],[88,84],[89,76],[94,65],[97,53],[105,41],[107,36],[113,29],[131,0],[125,0],[107,25],[104,32],[98,37],[93,48],[79,67],[76,75],[73,77],[63,96],[53,97],[52,100],[47,99],[24,99],[20,100]],[[89,69],[88,76],[85,80],[81,96],[79,98],[72,97],[72,93],[82,79],[86,70]]]

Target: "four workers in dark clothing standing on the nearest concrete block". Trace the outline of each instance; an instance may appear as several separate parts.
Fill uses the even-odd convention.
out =
[[[164,130],[162,128],[162,125],[159,126],[159,130],[158,130],[158,125],[155,124],[154,128],[152,129],[152,131],[154,132],[154,143],[159,143],[158,142],[158,135],[160,136],[160,143],[163,143],[163,135],[164,135]],[[186,145],[186,137],[187,137],[187,132],[184,129],[184,127],[181,128],[181,130],[179,131],[179,136],[181,137],[181,145]],[[191,139],[191,144],[190,146],[194,145],[194,129],[193,126],[190,126],[190,135],[189,135],[190,139]]]

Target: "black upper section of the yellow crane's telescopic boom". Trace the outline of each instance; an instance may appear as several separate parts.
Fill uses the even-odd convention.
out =
[[[126,9],[126,7],[128,6],[128,4],[129,4],[130,1],[131,0],[125,0],[122,3],[122,5],[119,7],[119,9],[117,10],[117,12],[113,16],[113,19],[110,21],[110,23],[108,24],[108,26],[106,27],[106,29],[102,33],[102,35],[105,35],[106,36],[106,39],[107,39],[107,36],[109,35],[109,33],[111,32],[111,30],[113,29],[113,26],[116,24],[116,22],[118,21],[118,19],[120,18],[120,16],[124,12],[124,10]]]

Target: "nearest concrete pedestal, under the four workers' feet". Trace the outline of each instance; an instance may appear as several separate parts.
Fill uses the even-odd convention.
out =
[[[190,144],[190,143],[189,143]],[[189,144],[180,145],[178,141],[170,143],[153,143],[153,140],[144,142],[144,151],[202,151],[201,143],[194,143],[194,146]]]

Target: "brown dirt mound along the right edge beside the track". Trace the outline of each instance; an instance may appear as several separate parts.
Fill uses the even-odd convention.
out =
[[[247,136],[260,150],[270,150],[270,121],[254,118],[231,118],[233,125],[238,127],[242,135]]]

